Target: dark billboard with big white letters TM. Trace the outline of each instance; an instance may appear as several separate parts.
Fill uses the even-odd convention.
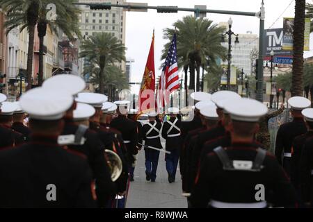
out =
[[[284,39],[283,28],[266,29],[264,32],[264,56],[271,56],[271,51],[274,51],[275,56],[292,56],[293,51],[285,51],[282,49]]]

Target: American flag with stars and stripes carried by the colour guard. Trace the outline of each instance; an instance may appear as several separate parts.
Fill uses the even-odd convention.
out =
[[[172,38],[170,49],[168,49],[168,56],[159,80],[159,91],[157,93],[157,107],[159,109],[165,106],[165,103],[169,101],[170,93],[175,89],[179,89],[176,33]]]

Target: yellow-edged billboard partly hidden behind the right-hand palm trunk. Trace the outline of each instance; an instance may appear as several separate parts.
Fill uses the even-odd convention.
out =
[[[305,33],[304,33],[304,49],[305,51],[310,50],[310,18],[305,19]],[[292,51],[294,49],[294,18],[284,18],[283,25],[283,40],[282,50]]]

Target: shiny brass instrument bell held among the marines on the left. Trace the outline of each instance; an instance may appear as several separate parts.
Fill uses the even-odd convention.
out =
[[[111,180],[115,182],[122,174],[122,160],[120,160],[118,154],[114,153],[113,151],[106,149],[104,152],[106,157],[106,163],[108,164],[110,169]]]

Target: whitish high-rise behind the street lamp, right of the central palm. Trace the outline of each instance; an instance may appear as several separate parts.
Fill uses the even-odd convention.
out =
[[[221,22],[219,26],[225,26],[228,31],[227,22]],[[252,61],[251,52],[258,51],[259,49],[259,37],[252,32],[247,31],[246,34],[239,34],[239,43],[235,42],[235,36],[232,35],[232,65],[237,69],[243,69],[245,74],[251,75]],[[223,46],[228,50],[228,39],[225,36],[225,42]],[[223,65],[227,65],[227,60],[222,62]]]

